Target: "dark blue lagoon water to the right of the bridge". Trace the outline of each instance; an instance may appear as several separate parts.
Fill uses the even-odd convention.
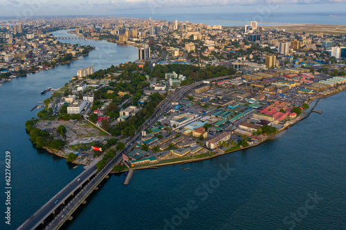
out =
[[[190,200],[197,208],[175,229],[289,229],[293,219],[283,220],[297,212],[303,218],[294,229],[346,229],[345,96],[322,99],[316,106],[322,115],[255,148],[184,164],[187,171],[181,165],[136,171],[127,186],[125,175],[111,176],[65,229],[91,229],[95,221],[97,229],[165,229],[165,219],[172,223]],[[226,164],[234,171],[217,186],[212,178]],[[210,182],[216,189],[203,200],[201,186]],[[308,193],[322,200],[305,215]]]

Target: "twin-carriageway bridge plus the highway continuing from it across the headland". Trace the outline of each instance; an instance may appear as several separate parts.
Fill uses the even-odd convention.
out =
[[[136,142],[140,139],[142,131],[147,131],[151,128],[159,117],[173,108],[172,102],[179,102],[187,95],[190,90],[206,84],[206,82],[215,82],[221,79],[227,79],[228,76],[215,77],[212,79],[206,79],[204,81],[194,82],[189,86],[183,86],[179,90],[176,90],[172,96],[167,97],[161,104],[156,107],[156,110],[152,114],[147,122],[138,128],[138,132],[134,137],[129,140],[124,151],[120,151],[116,154],[111,161],[107,163],[104,168],[98,172],[95,166],[89,167],[77,178],[67,184],[64,189],[57,193],[51,200],[46,202],[36,213],[34,213],[26,222],[21,224],[17,230],[21,229],[60,229],[66,220],[72,220],[73,212],[80,207],[81,204],[86,204],[85,199],[94,191],[98,189],[98,185],[104,178],[108,178],[109,173],[118,162],[122,159],[122,153],[127,153],[136,145]]]

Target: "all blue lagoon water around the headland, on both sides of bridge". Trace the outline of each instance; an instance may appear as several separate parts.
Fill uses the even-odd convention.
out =
[[[48,97],[39,92],[62,86],[78,68],[90,64],[106,68],[125,62],[127,55],[127,60],[136,59],[136,49],[131,46],[71,42],[94,44],[98,49],[70,65],[14,79],[0,88],[1,157],[4,159],[6,150],[12,153],[13,188],[12,224],[9,227],[2,220],[0,229],[18,227],[82,171],[82,167],[71,169],[64,159],[33,148],[28,140],[24,122],[37,113],[30,108]],[[101,50],[109,47],[114,49],[109,51],[113,56],[98,59]],[[321,115],[311,114],[273,140],[183,165],[190,170],[183,171],[178,164],[136,171],[127,186],[122,184],[125,174],[112,175],[63,229],[252,230],[289,229],[293,224],[293,229],[346,229],[345,96],[343,92],[322,99],[316,106],[323,111]],[[220,174],[225,180],[216,180],[227,164],[234,170],[227,178]],[[209,183],[215,189],[209,187],[206,192],[203,186]],[[322,198],[317,204],[309,202],[310,209],[304,208],[308,193]],[[0,199],[3,212],[3,193]],[[194,210],[187,214],[188,205]],[[179,219],[179,211],[185,213],[184,218]],[[296,220],[291,213],[299,214]],[[170,225],[172,219],[176,227]]]

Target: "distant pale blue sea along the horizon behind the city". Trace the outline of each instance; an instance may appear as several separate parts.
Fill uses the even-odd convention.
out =
[[[281,8],[282,6],[278,6]],[[284,9],[281,9],[284,10]],[[317,23],[343,25],[346,20],[345,12],[278,12],[279,10],[264,10],[258,8],[257,12],[217,12],[217,13],[186,13],[186,14],[160,14],[159,10],[147,10],[143,15],[116,15],[122,17],[136,17],[147,19],[164,19],[166,21],[190,21],[194,23],[206,23],[207,25],[244,26],[250,21],[257,21],[258,26],[275,26],[282,23]],[[151,13],[150,13],[151,12]],[[337,15],[338,17],[330,17]],[[271,23],[268,23],[271,22]]]

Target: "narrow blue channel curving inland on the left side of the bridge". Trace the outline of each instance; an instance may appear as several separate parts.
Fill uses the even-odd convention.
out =
[[[70,36],[66,31],[54,32],[59,36]],[[1,215],[0,229],[15,229],[45,204],[57,191],[82,172],[82,167],[71,169],[64,159],[44,150],[37,150],[28,140],[25,122],[39,111],[30,109],[48,98],[51,93],[41,95],[47,87],[64,86],[77,75],[78,68],[95,65],[95,70],[108,68],[125,61],[137,59],[134,46],[118,46],[107,41],[62,40],[73,44],[96,46],[89,55],[80,57],[71,64],[57,66],[50,70],[29,74],[27,77],[12,79],[0,87],[0,165],[1,186],[5,184],[5,152],[12,157],[12,224],[7,226]],[[3,191],[0,195],[1,213],[6,209]]]

